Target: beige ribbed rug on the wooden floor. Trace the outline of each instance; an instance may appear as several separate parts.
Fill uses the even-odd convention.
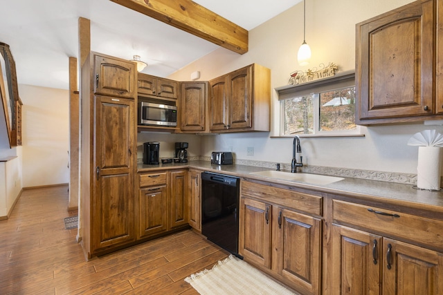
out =
[[[185,280],[202,295],[298,295],[233,255]]]

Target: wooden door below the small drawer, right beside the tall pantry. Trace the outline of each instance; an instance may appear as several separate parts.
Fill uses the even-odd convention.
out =
[[[139,210],[138,238],[166,231],[168,229],[168,191],[166,186],[141,189]]]

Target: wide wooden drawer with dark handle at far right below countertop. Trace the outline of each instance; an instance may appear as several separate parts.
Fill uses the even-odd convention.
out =
[[[406,238],[443,249],[443,235],[440,234],[443,228],[442,220],[423,218],[341,200],[333,200],[333,216],[334,222],[344,222],[348,225],[368,229],[368,231],[377,231],[377,233]]]

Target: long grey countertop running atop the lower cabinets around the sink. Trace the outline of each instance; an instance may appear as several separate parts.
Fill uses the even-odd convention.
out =
[[[213,173],[223,173],[233,175],[239,178],[271,182],[282,184],[300,189],[309,189],[322,193],[331,193],[360,200],[376,200],[382,198],[386,201],[407,202],[406,205],[427,209],[443,213],[443,191],[428,191],[414,189],[412,184],[399,184],[395,182],[383,182],[377,180],[365,180],[360,178],[344,178],[341,181],[332,184],[307,184],[305,182],[296,182],[291,180],[279,180],[275,178],[266,178],[259,175],[250,174],[251,172],[268,171],[269,168],[246,165],[216,165],[208,161],[190,161],[187,163],[172,163],[159,165],[138,164],[137,172],[149,172],[165,169],[190,168]]]

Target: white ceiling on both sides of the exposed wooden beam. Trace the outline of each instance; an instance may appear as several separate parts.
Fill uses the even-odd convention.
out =
[[[251,30],[301,0],[195,0]],[[0,0],[0,42],[9,44],[19,84],[67,89],[68,57],[78,57],[78,17],[91,20],[91,50],[149,66],[166,77],[219,48],[109,0]]]

